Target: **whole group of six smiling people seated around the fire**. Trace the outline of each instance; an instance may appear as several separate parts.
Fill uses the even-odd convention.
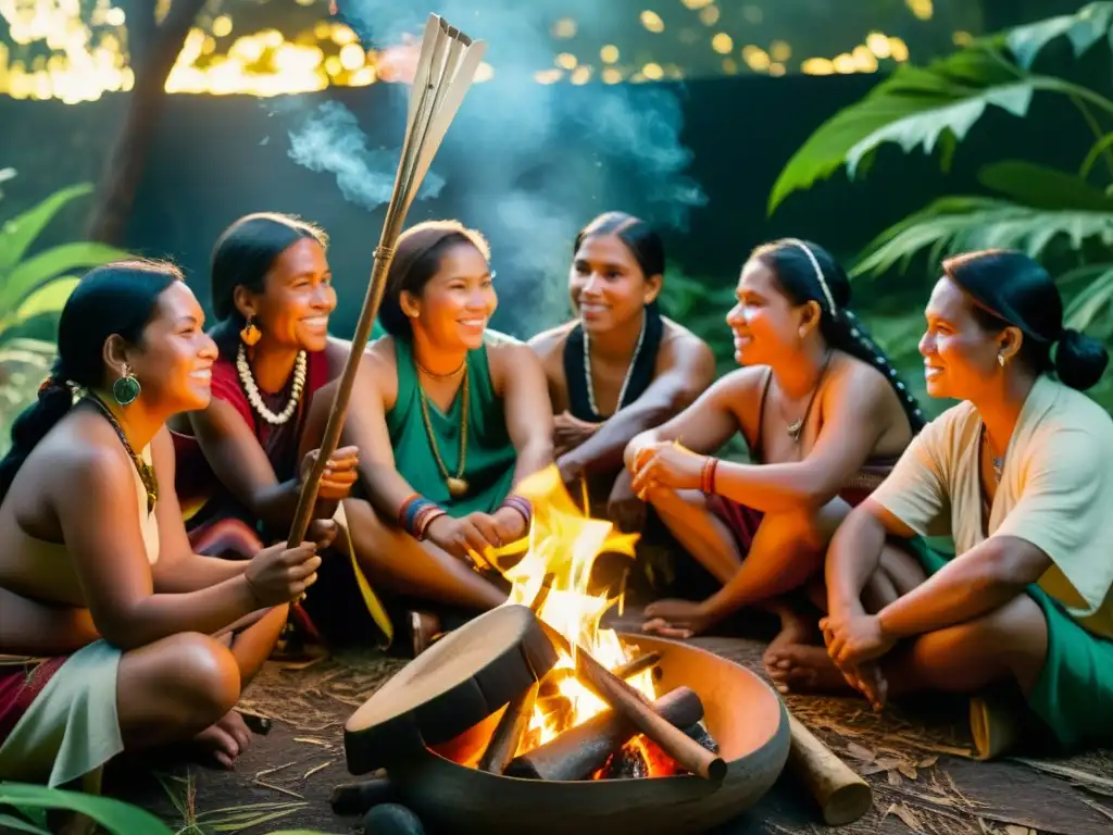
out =
[[[285,215],[234,223],[210,328],[164,262],[95,268],[69,297],[0,461],[0,779],[88,786],[170,745],[230,766],[235,707],[289,623],[418,654],[503,605],[483,554],[528,533],[515,485],[552,465],[622,529],[658,520],[719,587],[651,603],[647,630],[771,613],[782,692],[880,709],[1013,687],[1062,746],[1113,740],[1113,421],[1081,393],[1107,356],[1026,255],[944,263],[919,351],[929,395],[958,403],[928,422],[816,244],[750,254],[726,316],[740,367],[716,379],[660,312],[647,223],[584,227],[575,317],[529,342],[489,327],[482,235],[417,224],[288,547],[352,350],[328,334],[327,243]],[[717,458],[738,434],[748,460]]]

